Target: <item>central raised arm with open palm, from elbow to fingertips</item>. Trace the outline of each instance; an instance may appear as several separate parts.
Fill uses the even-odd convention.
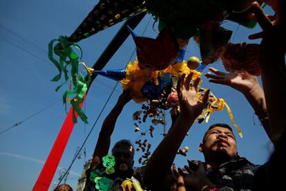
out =
[[[171,170],[175,155],[189,131],[194,120],[200,115],[206,104],[209,90],[204,93],[202,100],[198,100],[196,89],[200,82],[197,78],[190,87],[193,73],[186,79],[185,75],[178,81],[177,91],[180,102],[180,115],[160,145],[155,149],[146,167],[144,168],[143,181],[151,190],[164,190],[171,187]],[[162,188],[163,187],[163,188]]]

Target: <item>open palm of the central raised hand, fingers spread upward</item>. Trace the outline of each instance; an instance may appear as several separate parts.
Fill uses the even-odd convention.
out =
[[[197,118],[204,105],[209,98],[209,89],[204,93],[202,100],[198,99],[197,89],[200,83],[200,78],[196,78],[194,82],[191,83],[193,73],[190,73],[187,78],[185,74],[179,79],[177,84],[178,99],[180,102],[180,115],[186,118]]]

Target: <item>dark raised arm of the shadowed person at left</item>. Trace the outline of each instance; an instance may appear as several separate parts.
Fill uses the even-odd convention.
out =
[[[124,91],[117,100],[117,103],[105,118],[102,129],[99,132],[95,151],[93,153],[93,161],[90,165],[90,170],[94,170],[100,163],[101,158],[108,154],[108,149],[111,145],[111,134],[113,133],[115,122],[120,115],[124,105],[131,100],[131,96],[128,91]]]

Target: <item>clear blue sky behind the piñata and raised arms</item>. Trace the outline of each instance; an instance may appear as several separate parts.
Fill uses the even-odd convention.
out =
[[[64,106],[60,101],[64,89],[55,92],[58,84],[50,82],[57,74],[57,69],[48,60],[48,42],[59,37],[59,35],[73,33],[75,28],[88,15],[88,12],[92,10],[95,3],[97,1],[91,0],[0,1],[0,131],[57,102],[41,113],[28,118],[18,127],[0,134],[0,190],[31,190],[34,186],[66,117]],[[266,8],[266,10],[271,12],[269,8]],[[140,25],[135,28],[135,33],[142,34],[150,17],[150,15],[144,17]],[[156,36],[152,24],[153,19],[151,24],[147,26],[144,36]],[[84,51],[82,60],[88,66],[93,66],[120,26],[121,24],[117,24],[79,42],[79,46]],[[238,24],[233,24],[230,21],[227,21],[224,26],[233,30],[231,42],[236,43],[249,42],[248,35],[260,31],[258,26],[254,29],[247,29],[243,26],[238,27]],[[258,43],[259,41],[252,41],[251,43],[255,42]],[[134,48],[133,40],[128,37],[120,50],[106,64],[105,69],[124,68]],[[185,58],[193,55],[200,57],[198,46],[191,40]],[[131,60],[134,60],[134,58],[135,55]],[[211,66],[222,69],[221,62],[216,62]],[[242,139],[237,138],[239,154],[249,158],[254,163],[265,163],[271,153],[272,145],[263,128],[260,127],[260,123],[254,116],[254,111],[247,103],[247,100],[241,93],[229,87],[210,84],[206,78],[202,78],[202,80],[202,87],[210,88],[218,98],[224,98],[231,107],[236,123],[242,129],[244,136]],[[59,170],[70,165],[77,147],[80,147],[84,142],[115,83],[113,80],[99,77],[91,85],[84,106],[89,124],[84,125],[83,122],[79,121],[75,125],[73,134],[70,136],[64,155],[59,163],[59,169],[50,185],[50,190],[53,190],[53,183],[58,182]],[[82,174],[85,160],[88,160],[93,154],[102,121],[115,104],[121,91],[121,85],[119,84],[86,142],[86,157],[83,156],[81,159],[77,159],[71,168],[67,183],[74,189],[77,185],[77,179]],[[135,127],[132,120],[133,112],[138,109],[140,109],[140,104],[135,104],[133,101],[126,105],[117,120],[111,144],[121,138],[128,138],[133,142],[139,138],[139,134],[134,132]],[[166,113],[168,112],[166,111]],[[169,128],[169,116],[168,122],[167,127]],[[182,147],[189,146],[187,157],[178,156],[175,159],[176,165],[186,164],[187,158],[203,160],[202,154],[198,152],[198,145],[204,131],[214,122],[231,124],[227,111],[224,110],[214,113],[208,124],[193,125],[189,136],[182,143]],[[146,130],[149,125],[151,123],[147,121],[140,128]],[[149,134],[146,135],[149,143],[152,143],[151,151],[162,140],[160,135],[162,131],[163,127],[158,125],[153,131],[154,138],[151,138]],[[238,137],[236,131],[235,134]],[[135,156],[135,165],[138,165],[138,158],[137,154]]]

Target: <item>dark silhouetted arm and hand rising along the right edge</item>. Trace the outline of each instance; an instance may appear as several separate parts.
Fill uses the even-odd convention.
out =
[[[252,10],[263,32],[251,35],[249,39],[263,38],[258,59],[262,71],[261,77],[270,118],[271,135],[276,143],[286,127],[284,114],[286,107],[284,101],[286,95],[286,1],[269,0],[265,3],[269,3],[276,12],[274,20],[271,20],[273,17],[265,15],[258,3],[253,3]]]

